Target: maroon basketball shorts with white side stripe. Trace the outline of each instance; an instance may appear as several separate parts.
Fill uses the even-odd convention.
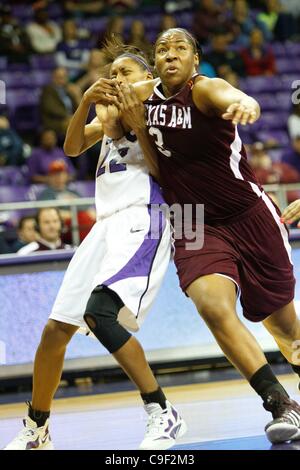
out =
[[[175,241],[175,264],[183,291],[196,279],[222,274],[241,292],[244,316],[264,320],[294,298],[295,278],[288,232],[279,209],[263,194],[258,203],[230,223],[204,226],[204,244],[187,250]]]

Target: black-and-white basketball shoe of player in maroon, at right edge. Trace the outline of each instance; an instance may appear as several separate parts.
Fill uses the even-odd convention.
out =
[[[300,439],[300,405],[294,400],[275,392],[270,394],[264,408],[271,411],[273,421],[265,427],[273,444]]]

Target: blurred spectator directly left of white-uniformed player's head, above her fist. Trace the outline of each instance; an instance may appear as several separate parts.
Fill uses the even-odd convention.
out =
[[[85,69],[77,75],[75,81],[82,93],[102,76],[105,64],[103,52],[100,49],[92,49]]]

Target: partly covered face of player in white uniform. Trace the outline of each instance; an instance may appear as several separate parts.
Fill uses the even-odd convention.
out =
[[[110,78],[116,78],[118,83],[136,83],[152,78],[148,70],[130,57],[116,59],[110,69]]]

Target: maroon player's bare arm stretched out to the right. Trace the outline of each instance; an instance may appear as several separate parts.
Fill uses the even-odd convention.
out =
[[[260,116],[260,106],[254,98],[221,78],[201,77],[193,89],[193,99],[200,111],[218,115],[234,125],[253,124]]]

